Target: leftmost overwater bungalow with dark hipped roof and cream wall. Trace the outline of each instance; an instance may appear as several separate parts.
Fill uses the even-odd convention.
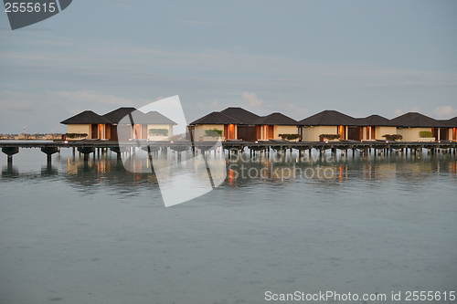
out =
[[[111,139],[111,130],[107,126],[110,126],[112,121],[91,110],[80,112],[60,123],[67,125],[67,133],[85,133],[86,139]]]

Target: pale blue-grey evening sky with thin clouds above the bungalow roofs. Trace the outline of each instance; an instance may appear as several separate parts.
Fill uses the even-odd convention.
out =
[[[449,119],[457,1],[74,0],[14,31],[0,12],[0,133],[175,95],[188,122],[227,107]]]

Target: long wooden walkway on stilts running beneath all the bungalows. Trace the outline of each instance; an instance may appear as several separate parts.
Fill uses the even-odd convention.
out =
[[[131,141],[122,143],[122,149],[140,147],[143,150],[149,151],[167,151],[168,148],[175,152],[185,152],[187,150],[208,151],[215,148],[220,148],[218,142],[146,142],[146,141]],[[362,154],[371,152],[384,151],[386,153],[396,150],[397,152],[419,152],[422,149],[428,150],[430,153],[438,151],[446,151],[455,154],[457,151],[457,142],[388,142],[388,141],[377,141],[377,142],[356,142],[356,141],[338,141],[338,142],[287,142],[287,141],[262,141],[262,142],[242,142],[242,141],[228,141],[221,142],[224,149],[231,152],[242,152],[245,148],[250,150],[250,153],[256,152],[270,152],[271,149],[276,152],[285,152],[287,150],[298,150],[300,154],[308,150],[315,149],[319,152],[325,150],[340,150],[347,152],[347,150],[353,150],[353,153],[358,150]],[[148,148],[149,147],[149,148]],[[17,142],[3,142],[0,141],[0,148],[4,152],[8,161],[12,160],[12,156],[19,152],[19,148],[39,148],[42,152],[48,154],[48,161],[50,156],[58,152],[61,148],[72,148],[73,153],[77,149],[83,153],[84,156],[88,156],[90,153],[95,153],[96,150],[110,149],[112,152],[118,154],[118,158],[121,157],[121,149],[119,142],[109,141],[70,141],[70,142],[33,142],[33,141],[17,141]]]

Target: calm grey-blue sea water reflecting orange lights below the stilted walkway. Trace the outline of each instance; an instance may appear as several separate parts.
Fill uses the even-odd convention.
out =
[[[241,178],[241,165],[271,164],[233,161],[216,190],[169,208],[154,177],[126,172],[114,153],[84,164],[62,150],[47,165],[24,149],[13,166],[0,156],[1,303],[457,288],[455,155],[274,164],[302,172],[291,178]],[[317,164],[328,178],[308,178]]]

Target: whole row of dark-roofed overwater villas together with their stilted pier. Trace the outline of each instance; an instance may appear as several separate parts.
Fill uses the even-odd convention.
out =
[[[61,148],[71,148],[88,160],[95,155],[112,151],[121,159],[125,149],[141,148],[153,153],[212,151],[216,142],[229,153],[285,153],[293,150],[299,155],[312,150],[324,154],[326,150],[341,151],[347,155],[389,153],[430,154],[444,152],[455,155],[457,150],[457,117],[451,120],[434,120],[416,112],[406,113],[388,120],[379,115],[353,118],[335,110],[324,110],[302,121],[295,121],[282,113],[259,116],[241,108],[215,111],[192,121],[186,134],[174,134],[175,121],[159,112],[142,113],[134,108],[119,108],[105,115],[85,110],[65,121],[67,137],[54,142],[0,141],[2,152],[12,163],[19,149],[39,148],[51,155]],[[119,137],[122,134],[124,140]],[[68,138],[71,137],[71,138]],[[125,138],[128,140],[126,141]],[[122,149],[123,148],[123,149]]]

